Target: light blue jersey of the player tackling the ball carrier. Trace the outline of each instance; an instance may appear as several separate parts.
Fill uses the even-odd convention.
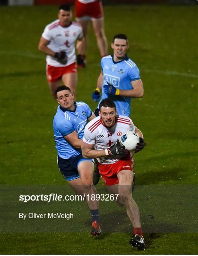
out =
[[[80,148],[74,148],[65,139],[64,136],[77,132],[79,139],[84,135],[84,129],[87,119],[92,115],[92,110],[85,102],[75,102],[75,110],[66,110],[58,107],[53,119],[54,139],[56,149],[61,158],[69,159],[81,154]]]

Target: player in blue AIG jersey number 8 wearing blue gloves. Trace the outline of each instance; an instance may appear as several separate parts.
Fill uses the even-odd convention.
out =
[[[125,34],[115,35],[111,47],[113,55],[105,56],[101,60],[102,71],[92,98],[94,101],[99,101],[102,90],[100,102],[104,98],[111,98],[115,102],[118,115],[129,116],[130,100],[143,96],[143,83],[137,65],[126,54],[129,49],[128,37]],[[96,116],[98,116],[98,108],[94,112]],[[100,174],[96,168],[94,184],[97,184],[99,179]]]

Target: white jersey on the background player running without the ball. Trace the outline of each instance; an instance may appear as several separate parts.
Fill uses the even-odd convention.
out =
[[[47,55],[46,62],[54,67],[68,66],[76,61],[75,46],[76,40],[83,37],[82,27],[77,23],[71,22],[68,27],[62,27],[60,20],[56,19],[48,24],[42,37],[50,41],[48,47],[54,52],[65,51],[68,56],[67,64],[60,64],[55,58]]]

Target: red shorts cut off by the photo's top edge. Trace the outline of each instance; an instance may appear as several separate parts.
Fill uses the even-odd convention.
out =
[[[78,0],[75,1],[76,18],[89,16],[90,18],[102,18],[103,6],[101,1],[83,4]]]

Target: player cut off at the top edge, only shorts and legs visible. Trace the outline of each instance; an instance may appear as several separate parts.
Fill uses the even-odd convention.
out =
[[[84,54],[86,54],[88,23],[91,20],[100,55],[102,57],[106,56],[108,54],[108,45],[104,33],[102,1],[75,0],[75,15],[77,23],[83,28],[83,36],[85,37]]]

